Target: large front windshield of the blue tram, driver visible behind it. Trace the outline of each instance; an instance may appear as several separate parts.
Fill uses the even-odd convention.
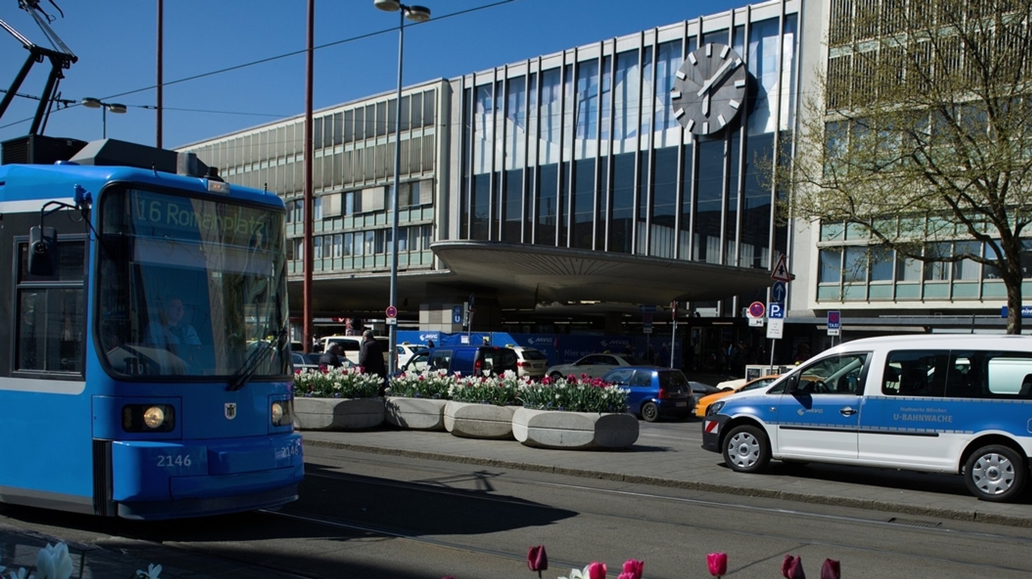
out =
[[[284,376],[284,213],[123,186],[101,201],[96,338],[112,373]]]

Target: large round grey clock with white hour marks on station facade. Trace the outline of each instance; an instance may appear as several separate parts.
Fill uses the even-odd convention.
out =
[[[742,58],[727,44],[709,42],[688,55],[674,79],[674,116],[697,135],[728,126],[745,103],[747,74]]]

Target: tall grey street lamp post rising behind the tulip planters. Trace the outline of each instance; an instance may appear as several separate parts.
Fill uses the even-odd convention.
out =
[[[390,238],[390,308],[397,307],[397,194],[401,172],[401,62],[405,50],[405,19],[412,22],[430,20],[430,9],[426,6],[407,6],[395,0],[373,0],[373,4],[381,10],[394,12],[400,10],[397,29],[397,94],[394,110],[394,191],[391,192],[391,238]],[[389,334],[389,372],[397,370],[397,318],[387,318]]]

